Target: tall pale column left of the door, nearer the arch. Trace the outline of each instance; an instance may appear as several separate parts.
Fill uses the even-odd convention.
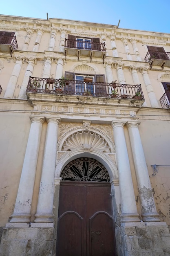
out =
[[[47,123],[46,143],[35,222],[53,222],[54,176],[58,126],[60,121],[49,118],[47,119]]]

